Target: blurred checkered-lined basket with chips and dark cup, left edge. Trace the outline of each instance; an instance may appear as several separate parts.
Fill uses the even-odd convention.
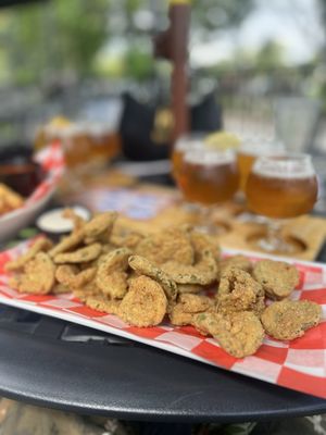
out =
[[[0,241],[33,222],[54,194],[64,171],[61,144],[35,156],[11,150],[0,165]]]

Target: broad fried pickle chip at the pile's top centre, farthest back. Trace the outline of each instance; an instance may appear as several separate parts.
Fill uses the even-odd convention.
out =
[[[172,227],[145,237],[135,252],[154,264],[177,261],[181,264],[193,263],[193,249],[187,231]]]

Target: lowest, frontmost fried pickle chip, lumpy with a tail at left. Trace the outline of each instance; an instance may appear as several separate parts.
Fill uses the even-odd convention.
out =
[[[212,335],[227,353],[236,358],[255,353],[264,339],[263,326],[251,311],[227,315],[200,313],[195,316],[193,325],[199,332]]]

